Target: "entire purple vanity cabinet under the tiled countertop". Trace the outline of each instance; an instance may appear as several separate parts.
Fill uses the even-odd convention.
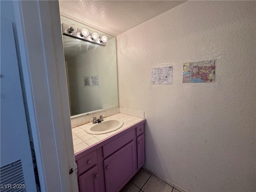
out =
[[[145,121],[76,153],[80,192],[118,192],[145,163]]]

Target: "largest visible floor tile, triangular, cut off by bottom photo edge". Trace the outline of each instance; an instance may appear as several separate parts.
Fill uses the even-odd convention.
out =
[[[172,192],[173,187],[166,182],[160,180],[154,175],[151,175],[146,184],[143,186],[144,192]]]

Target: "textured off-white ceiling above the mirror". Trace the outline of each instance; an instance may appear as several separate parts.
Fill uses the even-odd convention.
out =
[[[60,14],[114,35],[122,34],[185,1],[60,0]]]

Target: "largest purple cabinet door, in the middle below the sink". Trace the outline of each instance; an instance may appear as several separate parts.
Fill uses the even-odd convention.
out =
[[[112,156],[104,160],[107,192],[118,192],[135,174],[136,149],[130,142]]]

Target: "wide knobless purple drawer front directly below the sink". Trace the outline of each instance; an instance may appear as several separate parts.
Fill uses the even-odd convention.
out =
[[[109,142],[108,144],[103,146],[103,156],[106,158],[112,153],[116,152],[118,149],[122,148],[130,141],[134,139],[134,130],[129,131],[128,133],[118,137],[117,139]]]

